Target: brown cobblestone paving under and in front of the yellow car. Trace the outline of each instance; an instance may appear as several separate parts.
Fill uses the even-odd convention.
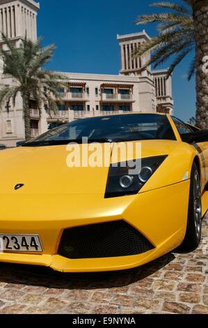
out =
[[[104,274],[1,263],[0,313],[208,313],[206,242],[208,221],[195,252]]]

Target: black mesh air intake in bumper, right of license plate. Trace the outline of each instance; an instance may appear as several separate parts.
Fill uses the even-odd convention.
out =
[[[125,221],[84,225],[64,230],[58,253],[65,258],[113,258],[154,248],[143,234]]]

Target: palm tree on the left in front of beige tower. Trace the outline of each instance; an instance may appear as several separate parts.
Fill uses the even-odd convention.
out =
[[[35,100],[40,114],[43,103],[47,103],[51,110],[57,110],[56,102],[61,103],[58,89],[63,87],[64,77],[50,70],[41,70],[53,56],[54,45],[42,48],[40,39],[32,42],[25,37],[22,45],[15,47],[6,36],[2,37],[7,46],[7,50],[1,50],[3,74],[13,77],[15,83],[1,87],[0,109],[3,103],[9,104],[10,100],[15,106],[17,94],[21,94],[25,139],[29,140],[31,139],[30,99]]]

